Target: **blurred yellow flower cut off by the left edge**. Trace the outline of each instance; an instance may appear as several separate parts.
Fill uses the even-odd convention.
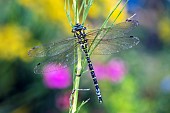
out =
[[[20,57],[22,60],[29,60],[26,43],[30,33],[25,28],[17,25],[6,25],[0,27],[0,59],[13,60]]]

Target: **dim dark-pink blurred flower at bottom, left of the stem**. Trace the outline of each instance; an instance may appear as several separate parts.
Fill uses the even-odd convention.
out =
[[[65,93],[56,98],[56,107],[61,110],[68,109],[70,107],[70,93]]]

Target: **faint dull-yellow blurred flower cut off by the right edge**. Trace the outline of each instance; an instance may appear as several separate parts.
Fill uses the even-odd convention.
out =
[[[164,17],[158,23],[158,33],[160,38],[165,42],[170,42],[170,20],[169,17]]]

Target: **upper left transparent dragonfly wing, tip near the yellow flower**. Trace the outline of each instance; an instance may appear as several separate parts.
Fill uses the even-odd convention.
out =
[[[31,57],[55,56],[68,50],[74,43],[75,38],[68,38],[59,42],[35,46],[28,51],[28,55]]]

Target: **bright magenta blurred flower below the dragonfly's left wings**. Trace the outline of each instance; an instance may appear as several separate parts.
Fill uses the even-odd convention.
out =
[[[59,69],[61,65],[48,64],[43,70],[43,82],[47,88],[63,89],[71,85],[71,76],[68,68]],[[57,71],[54,71],[57,70]]]

